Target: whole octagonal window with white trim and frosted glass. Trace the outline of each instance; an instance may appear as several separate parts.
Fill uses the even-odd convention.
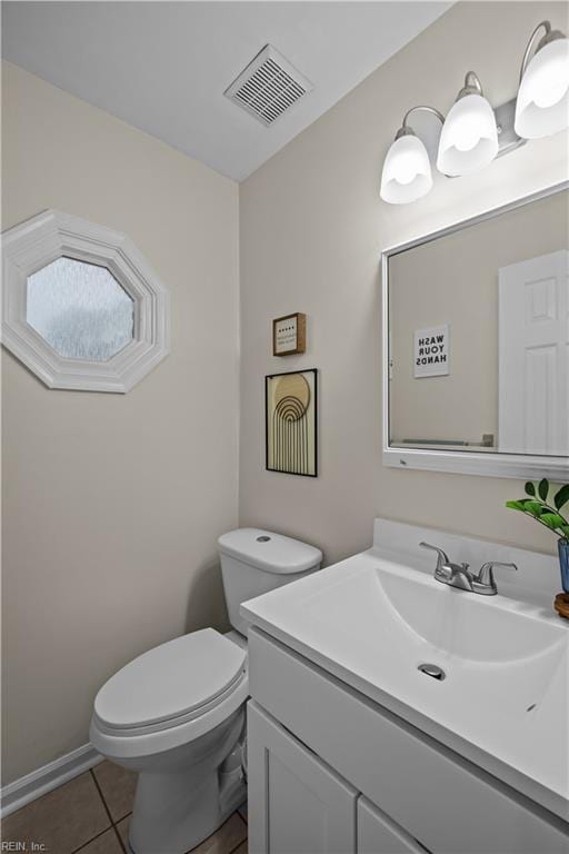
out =
[[[2,345],[48,388],[126,394],[168,355],[168,290],[127,235],[50,209],[1,248]]]

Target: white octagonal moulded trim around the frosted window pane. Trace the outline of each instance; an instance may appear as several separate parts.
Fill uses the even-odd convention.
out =
[[[132,340],[107,361],[60,356],[26,320],[28,277],[62,256],[106,267],[134,304]],[[46,210],[2,235],[2,344],[49,388],[129,391],[169,352],[169,296],[119,231]]]

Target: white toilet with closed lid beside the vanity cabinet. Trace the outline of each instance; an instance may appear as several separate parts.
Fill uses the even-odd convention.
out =
[[[320,568],[318,548],[240,528],[219,538],[234,632],[192,632],[150,649],[112,676],[94,699],[90,738],[139,773],[129,843],[133,854],[184,854],[246,797],[241,766],[248,697],[241,602]]]

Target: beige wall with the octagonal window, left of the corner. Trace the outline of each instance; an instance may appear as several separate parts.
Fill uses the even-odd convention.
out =
[[[3,228],[53,207],[124,231],[171,295],[168,358],[128,395],[3,363],[4,783],[84,744],[134,655],[223,626],[237,523],[238,187],[14,66]]]

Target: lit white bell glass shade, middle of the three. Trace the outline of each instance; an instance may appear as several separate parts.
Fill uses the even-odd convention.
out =
[[[466,95],[452,106],[439,140],[437,168],[443,175],[467,175],[498,153],[493,110],[481,95]]]

